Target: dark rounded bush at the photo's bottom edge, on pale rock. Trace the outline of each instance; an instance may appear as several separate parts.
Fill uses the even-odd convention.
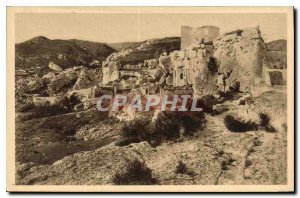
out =
[[[153,185],[157,180],[144,162],[135,159],[126,164],[123,171],[116,172],[112,182],[116,185]]]

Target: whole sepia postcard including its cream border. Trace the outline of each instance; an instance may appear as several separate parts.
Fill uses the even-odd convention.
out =
[[[7,7],[7,190],[294,191],[293,12]]]

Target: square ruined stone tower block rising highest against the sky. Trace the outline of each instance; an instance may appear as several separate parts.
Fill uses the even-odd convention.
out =
[[[220,30],[216,26],[202,26],[193,28],[181,26],[181,50],[190,47],[194,41],[210,42],[219,36]]]

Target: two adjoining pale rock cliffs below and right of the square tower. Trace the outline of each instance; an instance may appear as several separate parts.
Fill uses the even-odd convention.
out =
[[[258,27],[225,33],[213,46],[194,44],[169,56],[173,65],[173,85],[193,85],[203,96],[217,91],[247,92],[263,77],[266,47]]]

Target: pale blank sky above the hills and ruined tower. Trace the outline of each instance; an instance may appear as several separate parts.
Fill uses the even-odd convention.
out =
[[[182,25],[214,25],[220,32],[259,25],[266,42],[287,39],[286,14],[222,13],[18,13],[16,42],[36,36],[104,43],[180,36]]]

